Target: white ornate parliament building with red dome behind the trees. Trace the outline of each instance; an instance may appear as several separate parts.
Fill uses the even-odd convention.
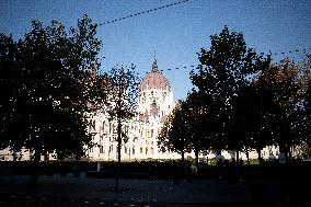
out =
[[[151,71],[142,79],[137,103],[137,115],[128,122],[123,123],[123,131],[127,136],[127,141],[123,141],[120,157],[122,160],[143,160],[143,159],[180,159],[176,152],[160,151],[157,136],[165,117],[174,107],[173,90],[169,80],[158,69],[154,58]],[[89,119],[88,133],[92,135],[92,148],[85,149],[85,157],[90,160],[117,160],[117,122],[108,118],[108,113],[99,111]],[[278,156],[278,150],[274,147],[262,150],[264,159]],[[30,160],[28,150],[16,153],[18,160]],[[215,158],[215,153],[200,154],[204,159]],[[226,159],[234,158],[232,152],[223,151]],[[186,154],[185,158],[193,153]],[[245,159],[245,154],[240,157]],[[256,159],[255,151],[250,153],[251,159]],[[46,158],[45,158],[46,159]],[[53,154],[48,159],[55,159]],[[13,160],[13,153],[9,149],[0,150],[0,160]]]

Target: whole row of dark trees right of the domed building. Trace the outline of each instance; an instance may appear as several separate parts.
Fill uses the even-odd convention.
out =
[[[239,160],[240,151],[249,158],[255,149],[261,161],[267,146],[278,146],[288,160],[291,147],[310,146],[311,56],[298,65],[290,59],[273,64],[269,55],[247,48],[242,33],[224,26],[198,59],[191,72],[194,89],[159,135],[162,150],[182,159],[194,151],[197,162],[206,150],[234,150]]]

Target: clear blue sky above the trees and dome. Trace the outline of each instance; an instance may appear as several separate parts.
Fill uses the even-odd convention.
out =
[[[0,33],[22,37],[30,32],[31,21],[48,25],[51,20],[67,27],[87,13],[100,24],[129,14],[159,8],[180,0],[1,0]],[[258,53],[278,54],[277,61],[289,56],[299,60],[311,53],[310,0],[189,0],[148,14],[105,24],[97,30],[103,41],[101,70],[116,65],[130,65],[143,77],[151,70],[157,50],[159,69],[164,70],[174,91],[174,100],[192,89],[189,66],[197,65],[199,48],[209,48],[209,36],[229,30],[242,32],[249,47]],[[286,54],[281,55],[280,53]],[[183,67],[187,66],[186,69]],[[169,68],[182,68],[168,70]]]

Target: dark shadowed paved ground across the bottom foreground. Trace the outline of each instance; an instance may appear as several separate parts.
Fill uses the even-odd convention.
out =
[[[28,176],[0,176],[0,206],[231,206],[269,203],[311,206],[310,181],[120,180],[42,175],[38,185]],[[27,205],[30,204],[30,205]],[[34,205],[35,204],[35,205]]]

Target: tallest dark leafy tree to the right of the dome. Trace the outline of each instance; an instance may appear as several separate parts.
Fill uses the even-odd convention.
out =
[[[229,32],[227,26],[219,35],[210,36],[210,42],[209,50],[200,49],[200,65],[197,71],[191,72],[191,79],[198,93],[210,97],[206,108],[212,110],[207,116],[218,123],[212,142],[222,143],[217,150],[235,150],[239,159],[243,142],[240,136],[235,136],[234,99],[263,66],[269,65],[269,58],[263,59],[254,49],[246,48],[243,34]]]

